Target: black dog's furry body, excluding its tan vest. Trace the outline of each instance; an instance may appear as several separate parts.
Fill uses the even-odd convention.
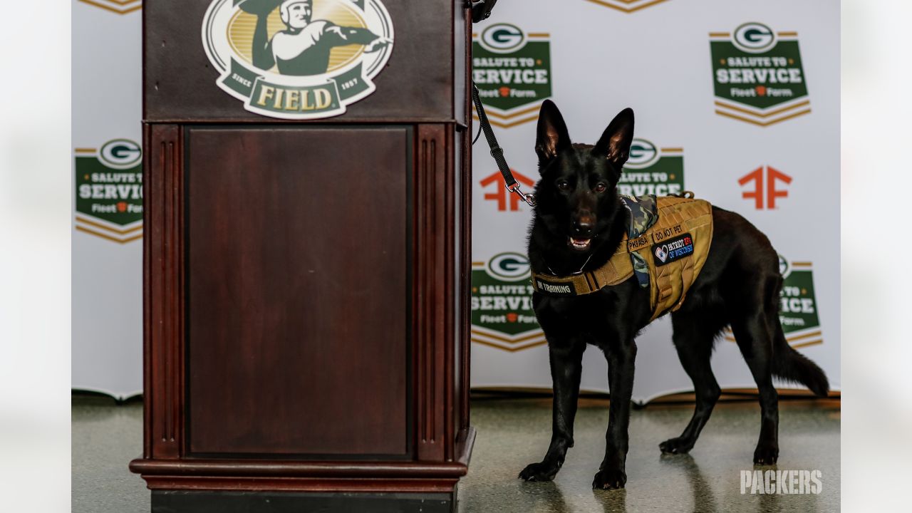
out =
[[[567,276],[601,267],[627,229],[628,214],[619,203],[617,181],[633,139],[633,110],[622,110],[595,146],[572,144],[560,111],[545,100],[538,120],[535,152],[542,179],[535,187],[529,261],[536,272]],[[672,340],[693,381],[697,405],[677,438],[662,442],[663,453],[687,453],[710,418],[720,395],[710,368],[714,341],[731,325],[744,360],[760,392],[760,441],[756,465],[779,455],[778,397],[772,376],[803,383],[824,396],[829,383],[814,362],[785,341],[779,323],[782,276],[779,257],[760,230],[737,215],[712,207],[710,254],[678,311],[671,313]],[[571,238],[576,244],[571,244]],[[588,239],[586,247],[580,247]],[[528,481],[553,479],[573,446],[573,422],[586,344],[605,353],[611,390],[605,459],[593,487],[620,488],[627,482],[627,424],[633,390],[639,330],[651,317],[648,288],[631,277],[615,287],[578,297],[534,294],[535,315],[548,340],[554,381],[551,445],[541,463],[526,466]]]

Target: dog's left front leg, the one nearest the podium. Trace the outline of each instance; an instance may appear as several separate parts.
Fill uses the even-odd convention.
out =
[[[530,464],[519,473],[519,477],[526,481],[554,479],[564,465],[567,449],[573,446],[573,421],[583,372],[583,351],[586,351],[586,342],[581,340],[548,340],[551,379],[554,382],[551,445],[548,445],[548,452],[541,463]]]

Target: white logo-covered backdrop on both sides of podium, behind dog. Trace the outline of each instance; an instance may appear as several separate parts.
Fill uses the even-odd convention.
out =
[[[77,158],[96,158],[98,165],[107,165],[99,153],[112,147],[110,141],[141,142],[141,1],[73,0],[72,6],[76,171]],[[725,99],[718,101],[729,107],[716,106],[710,34],[716,35],[714,40],[724,40],[718,35],[731,34],[749,22],[770,27],[777,44],[798,41],[806,98],[759,113],[750,105],[732,106]],[[489,96],[485,102],[492,120],[500,125],[495,130],[516,173],[527,183],[537,180],[534,120],[544,98],[554,99],[571,137],[580,142],[594,142],[617,111],[632,107],[637,115],[636,137],[652,143],[660,159],[628,172],[665,173],[653,184],[683,185],[713,204],[745,215],[770,236],[791,264],[787,272],[798,285],[794,298],[798,302],[792,306],[813,309],[813,314],[785,315],[805,322],[787,335],[799,351],[824,368],[838,389],[838,4],[829,0],[502,0],[490,20],[475,26],[476,40],[498,24],[518,29],[522,42],[516,45],[508,29],[491,39],[492,45],[500,46],[495,49],[504,53],[485,53],[482,48],[476,57],[523,58],[518,66],[528,64],[534,69],[532,74],[520,74],[532,83],[479,83],[482,92],[506,91],[505,99]],[[769,52],[775,55],[776,47]],[[498,80],[511,76],[511,63],[483,64],[476,69],[496,70]],[[485,73],[483,79],[489,75]],[[805,100],[809,103],[789,109]],[[808,109],[768,126],[756,124]],[[748,120],[732,119],[716,110]],[[648,147],[642,144],[645,161]],[[474,152],[472,385],[550,387],[544,338],[530,317],[531,310],[524,308],[528,294],[520,293],[526,285],[522,260],[529,210],[504,197],[497,175],[490,178],[497,170],[483,139]],[[124,154],[129,157],[130,152]],[[108,164],[111,174],[137,171],[123,169],[124,165],[119,169],[118,162]],[[739,180],[758,168],[765,189],[769,168],[792,180],[774,183],[776,191],[787,196],[775,197],[772,209],[766,207],[768,194],[762,194],[762,209],[756,208],[753,198],[742,197],[757,183]],[[77,201],[78,185],[84,184],[79,178],[85,173],[73,176],[72,386],[126,397],[140,393],[142,383],[141,242],[135,238],[141,234],[141,221],[129,215],[82,212],[90,208],[85,202],[78,206]],[[124,199],[129,208],[136,204],[130,198],[89,203],[103,209]],[[813,287],[804,286],[807,282]],[[482,315],[489,317],[482,320]],[[637,401],[691,388],[671,346],[668,319],[648,328],[637,344]],[[712,364],[723,387],[754,386],[731,341],[720,340]],[[586,352],[583,388],[607,391],[604,358],[592,349]]]

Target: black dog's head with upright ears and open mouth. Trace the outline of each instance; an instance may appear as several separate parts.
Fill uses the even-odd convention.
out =
[[[536,215],[567,246],[587,252],[606,236],[617,215],[617,181],[633,141],[633,110],[608,124],[595,146],[573,144],[560,110],[544,100],[535,152],[542,179],[535,188]]]

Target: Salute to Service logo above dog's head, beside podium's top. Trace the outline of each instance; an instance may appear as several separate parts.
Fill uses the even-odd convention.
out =
[[[542,102],[551,96],[549,37],[508,23],[472,34],[472,80],[492,125],[510,128],[538,120]]]

